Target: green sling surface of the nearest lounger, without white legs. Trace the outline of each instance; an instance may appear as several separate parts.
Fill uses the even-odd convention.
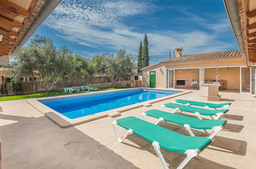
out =
[[[131,129],[134,134],[150,142],[158,142],[160,147],[168,151],[180,153],[191,149],[203,151],[211,143],[211,139],[207,137],[185,136],[132,116],[118,119],[116,123],[126,130]]]

